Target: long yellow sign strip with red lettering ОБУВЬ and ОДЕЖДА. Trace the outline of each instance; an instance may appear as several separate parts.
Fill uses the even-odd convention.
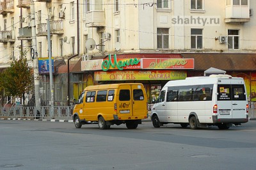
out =
[[[186,79],[186,71],[150,70],[150,71],[109,71],[94,72],[95,81],[137,81],[137,80],[180,80]]]

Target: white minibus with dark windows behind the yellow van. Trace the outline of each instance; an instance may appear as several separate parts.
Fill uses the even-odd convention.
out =
[[[243,78],[230,75],[188,77],[167,82],[152,107],[154,127],[167,123],[196,129],[216,125],[228,129],[248,122],[248,100]]]

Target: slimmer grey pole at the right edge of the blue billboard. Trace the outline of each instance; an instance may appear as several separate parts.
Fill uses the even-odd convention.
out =
[[[50,75],[50,89],[51,89],[51,109],[50,117],[54,115],[54,86],[52,81],[52,50],[51,50],[51,28],[50,28],[50,19],[47,19],[47,40],[48,40],[48,55],[49,55],[49,75]]]

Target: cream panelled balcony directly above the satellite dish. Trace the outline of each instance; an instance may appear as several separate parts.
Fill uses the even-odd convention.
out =
[[[86,12],[85,24],[86,24],[86,27],[102,27],[102,26],[105,26],[104,11]]]

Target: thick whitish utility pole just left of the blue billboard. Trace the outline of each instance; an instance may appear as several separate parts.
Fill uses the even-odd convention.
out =
[[[34,82],[35,82],[35,102],[36,102],[36,111],[41,107],[40,100],[40,76],[38,72],[38,58],[37,58],[37,47],[36,47],[36,26],[35,26],[35,4],[34,1],[31,0],[30,4],[31,9],[31,33],[32,33],[32,49],[31,49],[31,57],[33,59],[33,70],[34,70]],[[36,112],[36,114],[37,114]]]

